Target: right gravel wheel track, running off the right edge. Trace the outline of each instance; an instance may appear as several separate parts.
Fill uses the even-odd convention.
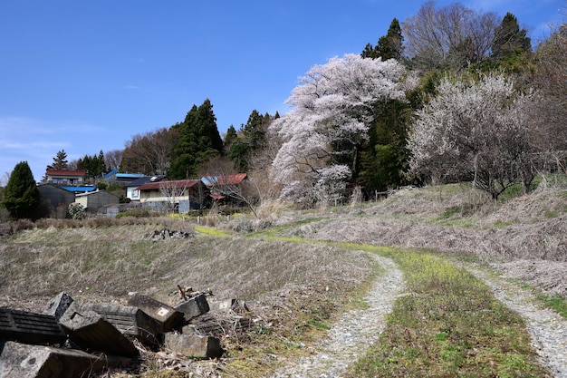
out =
[[[567,320],[537,305],[532,293],[505,278],[492,276],[483,269],[466,268],[492,288],[496,299],[524,317],[540,363],[547,366],[554,377],[567,378]]]

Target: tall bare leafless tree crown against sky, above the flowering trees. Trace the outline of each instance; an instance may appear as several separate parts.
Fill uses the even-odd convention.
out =
[[[494,13],[479,13],[459,3],[437,9],[428,1],[406,19],[402,32],[408,57],[418,69],[459,69],[485,58],[496,26]]]

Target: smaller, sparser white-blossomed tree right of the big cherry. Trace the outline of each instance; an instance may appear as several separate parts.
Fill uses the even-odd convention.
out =
[[[533,95],[489,74],[477,82],[443,79],[437,97],[417,113],[408,140],[410,169],[434,181],[470,179],[493,199],[509,186],[528,186],[532,170],[528,109]]]

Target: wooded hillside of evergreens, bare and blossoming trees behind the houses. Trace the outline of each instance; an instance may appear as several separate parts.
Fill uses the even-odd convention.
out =
[[[260,199],[303,207],[457,181],[498,199],[565,170],[566,86],[566,25],[533,47],[510,13],[428,1],[360,53],[313,65],[286,114],[254,110],[221,137],[206,99],[124,150],[66,167],[93,179],[112,169],[168,179],[246,172]]]

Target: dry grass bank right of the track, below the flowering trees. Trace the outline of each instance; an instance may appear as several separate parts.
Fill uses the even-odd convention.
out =
[[[270,232],[465,253],[565,297],[567,186],[561,180],[543,183],[532,193],[499,202],[466,184],[403,189],[360,208],[337,208],[324,217],[303,214],[291,220],[293,227]]]

